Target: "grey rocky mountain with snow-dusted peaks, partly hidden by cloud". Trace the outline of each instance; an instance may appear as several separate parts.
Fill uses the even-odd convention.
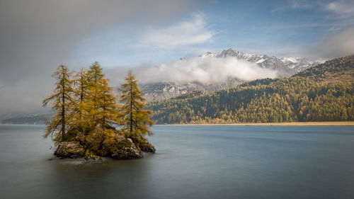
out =
[[[274,56],[270,57],[268,55],[256,55],[239,52],[233,50],[232,48],[216,53],[206,52],[205,54],[200,55],[198,58],[204,59],[206,57],[215,57],[217,59],[235,57],[236,59],[257,64],[257,66],[260,68],[276,70],[278,72],[277,77],[292,76],[297,74],[297,72],[302,72],[305,69],[314,67],[319,64],[319,62],[314,62],[313,60],[300,57],[277,58]],[[160,101],[195,90],[202,90],[210,93],[222,89],[229,89],[244,82],[245,80],[232,77],[229,77],[228,79],[225,79],[221,82],[210,82],[206,84],[201,84],[200,82],[164,81],[154,84],[142,84],[142,92],[144,98],[146,98],[147,101]]]

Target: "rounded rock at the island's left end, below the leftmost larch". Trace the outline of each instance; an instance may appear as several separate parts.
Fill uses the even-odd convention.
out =
[[[84,157],[85,149],[78,142],[61,142],[54,154],[61,158]]]

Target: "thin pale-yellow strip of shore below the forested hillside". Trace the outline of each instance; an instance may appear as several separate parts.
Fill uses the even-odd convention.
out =
[[[231,123],[231,124],[184,124],[185,125],[210,125],[210,126],[354,126],[354,121],[350,122],[295,122],[295,123]]]

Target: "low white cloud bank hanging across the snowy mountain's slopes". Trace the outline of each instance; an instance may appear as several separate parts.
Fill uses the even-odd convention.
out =
[[[154,67],[141,67],[134,72],[144,84],[160,81],[198,81],[208,84],[227,81],[228,78],[250,81],[277,76],[276,71],[263,69],[256,64],[235,57],[193,57],[158,64]]]

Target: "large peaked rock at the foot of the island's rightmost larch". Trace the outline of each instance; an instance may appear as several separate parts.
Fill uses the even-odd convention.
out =
[[[111,154],[114,159],[142,158],[142,151],[136,147],[130,138],[118,142],[117,149]]]

